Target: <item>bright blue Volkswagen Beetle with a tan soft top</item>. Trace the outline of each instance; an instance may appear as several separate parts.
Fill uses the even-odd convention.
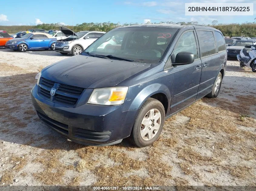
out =
[[[56,38],[47,33],[27,33],[21,38],[8,40],[5,43],[6,49],[26,52],[27,50],[55,49]]]

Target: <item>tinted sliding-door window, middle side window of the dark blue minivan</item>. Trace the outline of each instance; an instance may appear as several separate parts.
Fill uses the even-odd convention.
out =
[[[215,42],[212,31],[198,30],[201,57],[215,54]]]

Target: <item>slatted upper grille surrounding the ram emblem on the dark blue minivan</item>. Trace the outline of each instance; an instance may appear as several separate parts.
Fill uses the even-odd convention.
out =
[[[56,89],[55,95],[51,96],[51,89]],[[67,107],[74,107],[84,88],[60,84],[46,78],[40,78],[38,94],[54,103]]]

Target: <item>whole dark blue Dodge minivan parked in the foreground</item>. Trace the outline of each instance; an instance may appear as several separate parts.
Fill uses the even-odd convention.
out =
[[[165,119],[218,96],[226,62],[224,37],[212,27],[118,27],[38,73],[32,102],[44,123],[74,142],[104,146],[129,137],[145,147]]]

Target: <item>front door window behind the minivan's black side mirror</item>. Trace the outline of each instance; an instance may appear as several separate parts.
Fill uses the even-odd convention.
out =
[[[176,57],[176,55],[180,52],[190,52],[194,54],[194,59],[198,58],[197,45],[193,31],[183,34],[178,40],[173,54]]]

